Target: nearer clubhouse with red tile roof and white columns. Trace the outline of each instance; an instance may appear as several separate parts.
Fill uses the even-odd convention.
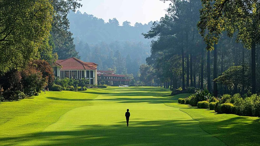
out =
[[[54,76],[58,78],[86,78],[89,84],[97,84],[97,65],[93,62],[83,62],[77,58],[57,60],[53,65]]]

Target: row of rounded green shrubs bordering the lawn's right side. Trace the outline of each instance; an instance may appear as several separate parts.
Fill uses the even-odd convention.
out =
[[[204,101],[199,101],[203,94],[196,92],[187,98],[179,98],[178,103],[190,104],[202,109],[215,110],[218,113],[236,114],[240,116],[258,116],[260,117],[260,96],[252,95],[242,98],[240,94],[233,96],[225,94],[220,99],[209,96]],[[204,94],[205,95],[205,94]]]

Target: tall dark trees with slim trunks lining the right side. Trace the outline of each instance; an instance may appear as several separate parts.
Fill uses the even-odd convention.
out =
[[[236,24],[230,25],[231,16],[225,18],[224,14],[218,13],[222,11],[218,6],[229,11],[227,7],[232,5],[220,3],[173,1],[165,17],[144,34],[145,38],[158,39],[151,43],[152,54],[146,62],[152,71],[143,71],[143,82],[183,90],[187,87],[207,88],[214,96],[260,92],[259,44],[257,41],[252,44],[252,40],[257,39],[251,39],[250,33],[241,32],[241,28],[248,29],[248,26],[238,29]],[[232,14],[235,16],[235,12]]]

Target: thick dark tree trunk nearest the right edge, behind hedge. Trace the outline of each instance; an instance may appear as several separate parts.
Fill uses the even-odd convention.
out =
[[[252,94],[256,93],[256,43],[252,43],[251,48],[251,61],[252,61]]]

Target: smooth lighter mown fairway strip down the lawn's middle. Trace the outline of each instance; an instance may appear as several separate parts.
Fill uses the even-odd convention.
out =
[[[104,92],[108,90],[108,92]],[[169,91],[131,87],[91,89],[99,95],[92,106],[74,108],[33,138],[17,145],[224,145],[199,127],[199,122],[159,99]],[[131,112],[129,127],[124,113]]]

